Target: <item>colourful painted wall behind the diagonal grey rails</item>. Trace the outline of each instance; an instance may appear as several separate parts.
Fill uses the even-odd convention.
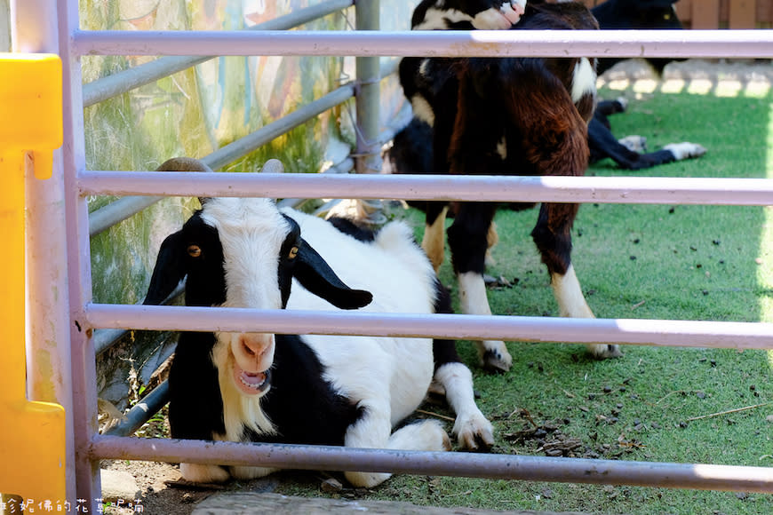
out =
[[[3,1],[3,0],[0,0]],[[7,0],[6,0],[7,1]],[[365,0],[367,1],[367,0]],[[84,29],[241,29],[313,0],[82,0]],[[410,28],[416,2],[381,2],[382,29]],[[395,9],[400,5],[400,9]],[[404,7],[404,8],[402,8]],[[347,30],[353,8],[303,28]],[[152,58],[87,57],[84,82]],[[354,78],[354,59],[339,57],[219,57],[147,84],[84,111],[86,162],[91,170],[155,170],[175,155],[202,157]],[[402,106],[395,79],[382,83],[382,124]],[[256,171],[270,157],[296,172],[316,172],[342,161],[354,144],[353,102],[331,110],[271,144],[228,165]],[[113,198],[92,198],[97,210]],[[145,295],[155,254],[167,234],[198,208],[171,198],[92,239],[94,300],[135,303]],[[133,386],[145,384],[171,353],[165,335],[136,331],[98,361],[100,398],[119,408]],[[134,379],[136,377],[136,380]],[[129,380],[127,381],[127,378]]]

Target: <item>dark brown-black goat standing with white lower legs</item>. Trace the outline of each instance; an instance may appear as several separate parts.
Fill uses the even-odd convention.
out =
[[[418,26],[416,17],[413,23]],[[582,4],[531,1],[513,28],[595,29],[598,25]],[[587,121],[595,103],[594,69],[593,59],[585,58],[402,59],[403,91],[414,115],[432,127],[432,165],[424,171],[582,175],[588,162]],[[495,234],[492,220],[497,205],[457,205],[448,240],[462,309],[490,314],[482,273]],[[426,202],[422,246],[436,268],[442,262],[447,210],[443,202]],[[543,203],[531,235],[547,265],[562,316],[587,318],[594,315],[570,261],[570,229],[577,210],[576,204]],[[588,348],[599,358],[620,354],[617,345]],[[479,353],[486,368],[510,368],[512,358],[503,342],[484,341]]]

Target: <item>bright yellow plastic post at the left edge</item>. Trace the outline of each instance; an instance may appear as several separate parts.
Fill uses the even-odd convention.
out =
[[[59,56],[0,53],[0,493],[35,509],[67,501],[66,435],[64,408],[27,400],[24,172],[34,166],[36,178],[51,177],[62,144],[61,82]]]

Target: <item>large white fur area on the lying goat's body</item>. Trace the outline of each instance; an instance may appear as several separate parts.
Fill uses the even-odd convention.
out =
[[[365,244],[321,218],[294,210],[284,212],[299,223],[304,239],[341,281],[373,294],[371,304],[361,311],[434,312],[434,270],[407,224],[391,222],[379,231],[373,244]],[[338,308],[293,281],[287,309]],[[327,369],[326,379],[340,393],[356,402],[386,407],[389,428],[418,408],[432,380],[429,338],[307,335],[304,340],[316,351]],[[352,367],[352,363],[358,366]]]

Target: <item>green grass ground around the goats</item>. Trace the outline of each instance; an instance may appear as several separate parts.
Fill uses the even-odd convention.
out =
[[[621,91],[602,91],[614,98]],[[773,98],[655,92],[632,99],[613,119],[619,136],[643,133],[649,148],[692,141],[698,160],[637,175],[763,178],[773,173]],[[590,175],[624,176],[612,162]],[[502,210],[490,274],[514,282],[491,289],[494,313],[555,316],[547,273],[530,241],[536,211]],[[762,207],[586,204],[575,223],[573,261],[599,317],[773,321],[773,238]],[[418,227],[420,213],[405,216]],[[441,278],[455,287],[449,264]],[[517,281],[514,281],[516,280]],[[509,343],[507,374],[473,365],[479,405],[496,429],[492,452],[544,456],[563,442],[570,456],[773,467],[773,351],[626,346],[614,361],[592,361],[580,345]],[[725,415],[727,410],[767,405]],[[443,407],[429,411],[449,415]],[[694,417],[706,416],[696,420]],[[529,418],[534,424],[531,424]],[[535,435],[534,425],[547,429]],[[450,430],[450,426],[448,428]],[[575,442],[569,446],[570,442]],[[282,493],[321,495],[317,474],[283,474]],[[323,494],[324,495],[324,494]],[[349,498],[396,499],[496,510],[603,513],[771,513],[773,496],[649,487],[588,486],[398,476]]]

